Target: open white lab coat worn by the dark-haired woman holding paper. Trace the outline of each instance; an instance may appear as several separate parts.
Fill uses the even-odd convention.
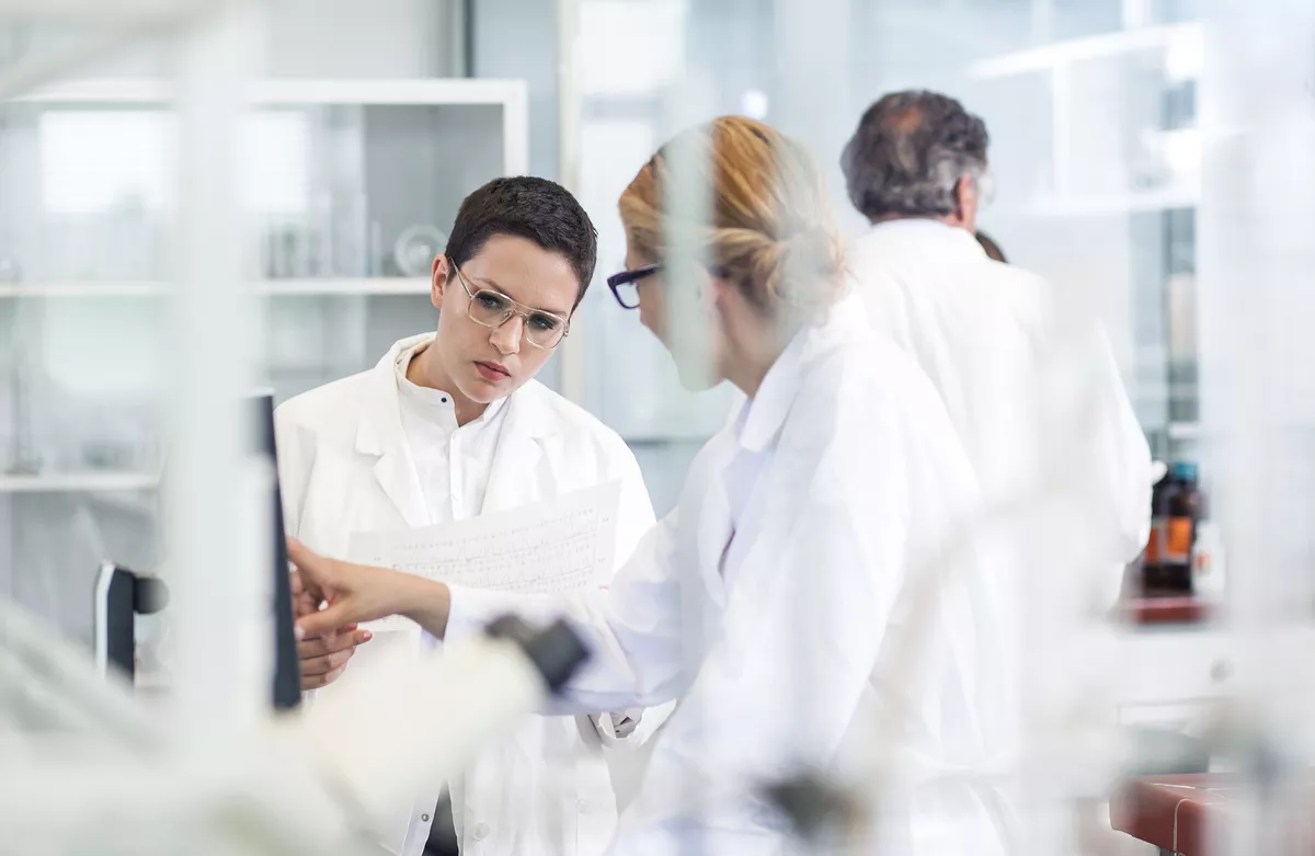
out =
[[[297,396],[275,413],[287,530],[312,550],[346,556],[354,531],[427,525],[425,496],[402,437],[394,377],[398,354],[433,334],[404,339],[375,368]],[[625,442],[533,380],[509,396],[506,408],[483,511],[619,480],[615,555],[623,561],[654,523],[639,465]],[[418,627],[414,632],[419,644]],[[375,643],[362,654],[370,644]],[[351,671],[348,665],[339,685]],[[462,853],[600,853],[617,818],[600,744],[643,743],[663,714],[646,713],[627,736],[618,736],[609,715],[529,719],[451,782]],[[406,831],[389,839],[405,839],[406,856],[423,848],[442,784],[417,794]]]

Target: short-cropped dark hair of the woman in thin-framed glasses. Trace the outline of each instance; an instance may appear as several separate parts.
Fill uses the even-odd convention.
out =
[[[598,230],[567,188],[529,175],[493,179],[462,201],[444,254],[466,264],[493,235],[527,238],[564,256],[580,279],[580,305],[598,262]]]

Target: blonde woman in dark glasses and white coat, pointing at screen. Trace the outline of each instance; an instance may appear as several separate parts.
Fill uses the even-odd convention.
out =
[[[710,222],[688,226],[704,264],[668,259],[668,153],[693,153]],[[682,697],[614,853],[775,853],[788,823],[764,786],[836,761],[880,722],[913,764],[882,803],[882,852],[1003,848],[977,785],[945,785],[995,751],[1001,621],[978,565],[939,593],[917,680],[892,684],[893,632],[909,583],[977,508],[963,448],[928,381],[874,342],[846,295],[826,191],[797,142],[747,118],[685,131],[644,164],[619,202],[627,270],[618,302],[671,347],[677,289],[704,313],[710,366],[747,402],[696,459],[677,509],[608,592],[560,600],[466,590],[317,556],[293,544],[306,584],[331,592],[300,629],[322,632],[402,614],[437,636],[477,632],[508,611],[571,614],[593,661],[555,710],[621,710]],[[898,646],[896,646],[898,647]],[[857,715],[860,711],[863,714]],[[859,722],[863,719],[864,722]]]

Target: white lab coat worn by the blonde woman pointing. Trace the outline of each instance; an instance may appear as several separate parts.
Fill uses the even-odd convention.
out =
[[[748,408],[609,592],[454,588],[447,638],[509,607],[565,610],[594,656],[562,710],[684,693],[614,853],[777,853],[785,823],[761,788],[852,761],[842,742],[899,759],[886,849],[865,852],[1002,852],[1002,792],[978,774],[1015,736],[1007,580],[964,544],[930,615],[910,601],[980,505],[935,391],[851,297],[796,337]],[[878,744],[851,742],[873,728]]]

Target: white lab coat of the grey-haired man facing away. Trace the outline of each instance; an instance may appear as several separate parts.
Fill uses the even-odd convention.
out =
[[[935,220],[873,226],[849,266],[873,327],[940,393],[988,506],[1043,490],[1076,497],[1085,543],[1103,554],[1088,556],[1098,576],[1085,597],[1111,604],[1123,564],[1147,543],[1153,479],[1093,301],[992,260],[970,233]],[[1024,560],[1059,565],[1038,555],[1035,531],[1026,540]]]

